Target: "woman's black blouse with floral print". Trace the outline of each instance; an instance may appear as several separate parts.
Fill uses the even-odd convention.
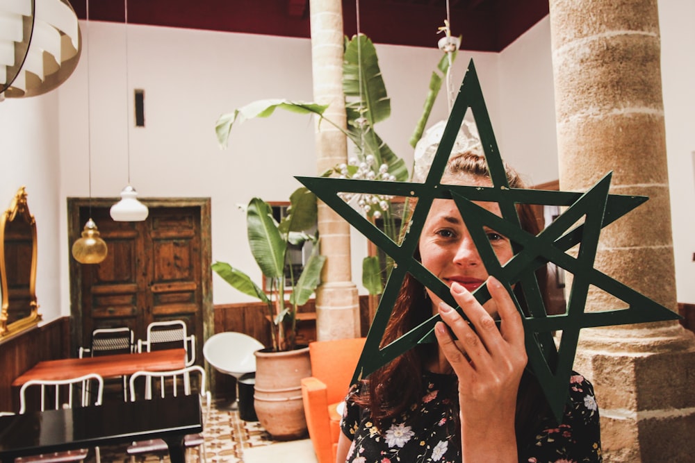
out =
[[[455,414],[457,407],[439,391],[455,384],[453,375],[427,372],[423,375],[425,395],[391,426],[380,432],[368,410],[362,410],[352,398],[359,393],[354,385],[345,398],[341,419],[343,433],[352,440],[347,452],[348,463],[453,463],[461,461],[458,439],[460,430]],[[583,376],[573,373],[570,380],[571,406],[566,406],[562,424],[551,418],[541,421],[535,438],[520,446],[519,462],[578,463],[602,462],[598,406],[594,388]],[[409,416],[420,408],[420,416]]]

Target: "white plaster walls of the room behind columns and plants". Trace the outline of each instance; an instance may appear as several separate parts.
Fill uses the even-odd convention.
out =
[[[660,3],[678,300],[695,302],[695,287],[689,284],[693,264],[685,259],[695,251],[689,213],[695,135],[688,131],[695,103],[689,75],[695,65],[687,54],[695,37],[684,19],[693,15],[683,14],[682,5]],[[280,112],[247,121],[233,129],[226,151],[217,146],[214,124],[223,112],[256,99],[311,101],[309,40],[129,25],[131,90],[126,91],[124,26],[81,26],[90,44],[64,85],[45,96],[0,103],[0,201],[9,203],[17,187],[27,185],[38,222],[38,296],[46,318],[70,314],[66,198],[88,196],[88,140],[93,196],[115,197],[126,185],[126,115],[132,112],[126,101],[132,105],[133,88],[145,90],[146,125],[130,129],[131,183],[141,197],[211,197],[213,260],[231,262],[259,278],[247,247],[245,217],[235,205],[252,196],[286,200],[298,186],[294,175],[316,174],[313,121]],[[407,140],[441,56],[436,38],[432,49],[377,45],[392,105],[391,118],[377,131],[409,166]],[[502,155],[530,183],[557,178],[548,18],[502,53],[459,52],[457,85],[471,58]],[[442,94],[430,120],[446,114]],[[353,279],[359,284],[366,241],[355,232],[352,242]],[[213,276],[214,303],[244,298]]]

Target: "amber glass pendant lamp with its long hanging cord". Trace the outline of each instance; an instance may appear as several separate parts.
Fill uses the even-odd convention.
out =
[[[89,0],[87,0],[87,16],[85,20],[85,32],[89,28]],[[106,242],[99,236],[97,224],[92,220],[92,124],[90,99],[90,78],[89,78],[89,49],[87,49],[87,153],[89,159],[89,219],[82,230],[82,237],[72,244],[72,257],[81,264],[99,264],[108,254]]]

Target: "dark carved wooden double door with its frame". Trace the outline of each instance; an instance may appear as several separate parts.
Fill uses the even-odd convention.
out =
[[[70,244],[91,210],[108,255],[91,265],[70,258],[72,350],[88,346],[95,328],[129,326],[145,339],[152,321],[182,319],[201,363],[213,330],[209,200],[142,200],[149,215],[140,222],[113,221],[115,199],[85,201],[68,200]]]

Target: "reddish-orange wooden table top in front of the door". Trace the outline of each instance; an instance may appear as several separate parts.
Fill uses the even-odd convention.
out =
[[[186,367],[185,349],[168,349],[132,354],[101,355],[99,357],[44,360],[15,379],[13,386],[22,386],[28,380],[67,380],[88,373],[103,378],[131,375],[136,371],[167,371]]]

